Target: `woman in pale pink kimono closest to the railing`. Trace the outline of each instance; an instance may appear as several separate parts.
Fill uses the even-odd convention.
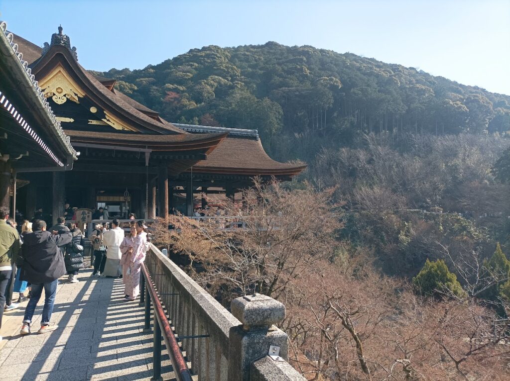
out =
[[[129,250],[131,254],[127,255],[129,268],[126,269],[125,293],[127,296],[124,299],[125,301],[134,301],[140,293],[140,272],[145,260],[145,253],[149,248],[145,221],[137,221],[135,229],[137,235],[133,243],[133,249]]]

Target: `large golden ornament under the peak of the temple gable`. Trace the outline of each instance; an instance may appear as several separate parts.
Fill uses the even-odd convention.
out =
[[[85,96],[85,92],[71,78],[61,65],[58,65],[48,75],[39,80],[45,98],[52,98],[57,104],[62,104],[67,99],[74,103],[80,103],[80,98]]]

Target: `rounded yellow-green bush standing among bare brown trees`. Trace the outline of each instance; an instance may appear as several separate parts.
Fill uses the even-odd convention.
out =
[[[455,274],[450,273],[442,259],[435,262],[427,259],[420,273],[413,278],[413,286],[419,293],[427,296],[444,297],[452,294],[463,297],[466,294]]]

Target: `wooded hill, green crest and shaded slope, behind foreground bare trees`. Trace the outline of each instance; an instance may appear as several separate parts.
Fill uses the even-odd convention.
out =
[[[438,244],[448,237],[482,256],[508,242],[508,186],[494,166],[510,145],[510,96],[275,42],[97,74],[168,121],[258,129],[272,157],[306,161],[301,179],[336,186],[345,203],[341,238],[382,258],[388,273],[415,275],[444,257]]]

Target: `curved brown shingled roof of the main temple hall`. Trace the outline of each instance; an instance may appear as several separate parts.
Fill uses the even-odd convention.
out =
[[[112,132],[108,132],[109,126],[100,126],[102,130],[96,126],[96,130],[92,130],[91,126],[68,128],[66,124],[66,133],[72,143],[146,147],[158,151],[205,149],[207,158],[204,156],[201,160],[190,162],[193,171],[200,173],[289,178],[306,168],[305,165],[284,164],[271,159],[262,147],[257,130],[174,125],[165,121],[159,113],[115,89],[114,79],[93,75],[85,70],[78,63],[76,49],[70,47],[69,39],[61,34],[61,29],[59,35],[54,36],[65,43],[45,44],[41,49],[20,38],[28,51],[29,63],[36,78],[43,78],[61,65],[83,88],[91,102],[134,127],[130,131],[112,128]]]

